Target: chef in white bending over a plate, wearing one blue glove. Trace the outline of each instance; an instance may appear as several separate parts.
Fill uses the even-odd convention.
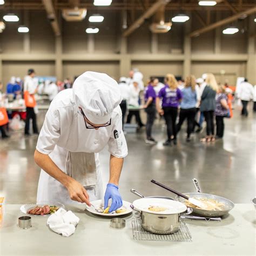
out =
[[[122,206],[118,183],[127,145],[120,102],[117,82],[91,71],[52,100],[35,151],[35,161],[42,168],[37,201],[90,206],[90,201],[102,199],[99,152],[108,145],[110,176],[104,208],[110,202],[110,212]]]

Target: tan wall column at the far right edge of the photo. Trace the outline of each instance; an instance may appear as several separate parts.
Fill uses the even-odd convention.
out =
[[[249,17],[248,24],[248,48],[247,48],[247,67],[246,67],[246,77],[248,82],[251,84],[256,84],[256,52],[255,52],[255,35],[253,35],[254,28],[254,17],[251,15]]]

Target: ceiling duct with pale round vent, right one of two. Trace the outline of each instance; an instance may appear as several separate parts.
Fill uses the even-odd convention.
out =
[[[152,33],[166,33],[171,29],[171,26],[171,22],[165,22],[165,5],[163,5],[154,15],[150,30]]]

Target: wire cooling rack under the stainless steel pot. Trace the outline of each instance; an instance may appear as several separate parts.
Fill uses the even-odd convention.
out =
[[[178,232],[173,234],[153,234],[145,231],[140,225],[140,218],[132,219],[132,233],[134,240],[144,240],[144,241],[183,241],[183,242],[192,242],[190,231],[186,224],[181,221],[180,229]]]

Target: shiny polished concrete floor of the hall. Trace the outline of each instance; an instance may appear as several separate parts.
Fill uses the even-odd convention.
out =
[[[44,114],[38,114],[39,126],[42,126]],[[192,141],[186,143],[183,127],[178,145],[164,147],[165,128],[159,121],[154,126],[157,145],[144,143],[145,131],[126,134],[129,156],[125,158],[120,179],[123,199],[137,199],[130,193],[131,188],[145,196],[174,196],[150,183],[151,179],[181,192],[194,192],[191,179],[195,177],[205,193],[218,194],[234,203],[249,203],[255,196],[256,114],[250,106],[249,116],[241,117],[236,107],[234,117],[225,119],[225,124],[224,139],[209,144],[199,142],[205,130],[194,134]],[[36,136],[24,138],[21,131],[13,132],[10,139],[0,139],[0,195],[4,194],[6,203],[30,203],[36,199],[39,177],[39,168],[33,161],[36,142]],[[107,182],[107,150],[100,154],[100,159]]]

